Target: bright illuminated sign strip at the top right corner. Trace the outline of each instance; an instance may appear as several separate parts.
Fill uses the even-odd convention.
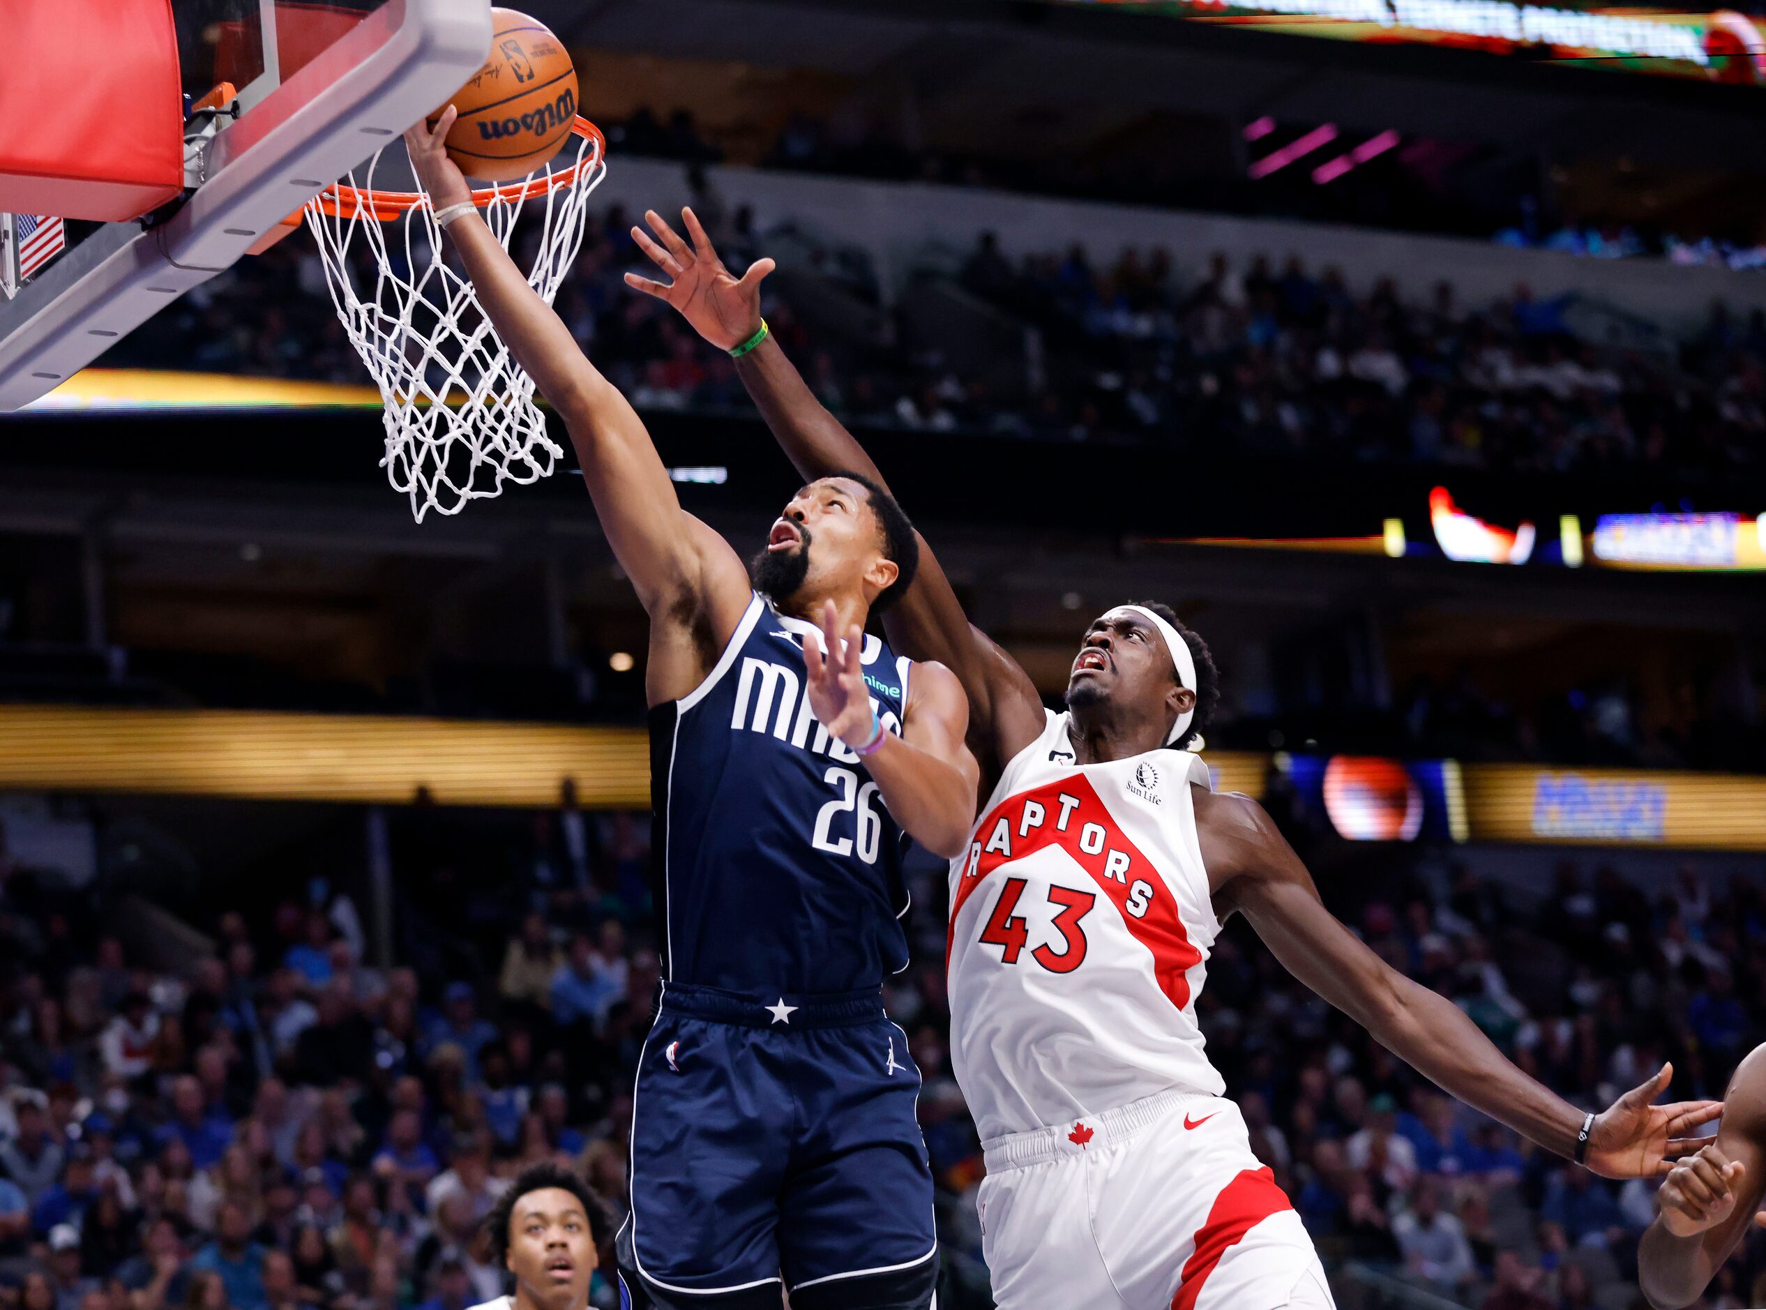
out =
[[[1053,0],[1377,44],[1473,49],[1575,67],[1759,85],[1761,25],[1732,9],[1538,5],[1513,0]]]

